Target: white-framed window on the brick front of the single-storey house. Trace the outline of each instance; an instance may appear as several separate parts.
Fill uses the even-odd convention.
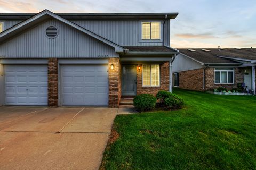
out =
[[[234,83],[234,69],[215,69],[214,70],[215,84],[233,84]]]

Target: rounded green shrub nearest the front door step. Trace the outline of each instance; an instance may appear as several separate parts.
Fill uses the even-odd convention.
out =
[[[133,99],[133,105],[140,113],[153,110],[156,107],[156,97],[151,94],[137,95]]]

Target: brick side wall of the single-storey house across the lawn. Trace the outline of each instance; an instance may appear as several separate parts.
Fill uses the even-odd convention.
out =
[[[174,77],[174,75],[173,75]],[[203,69],[195,69],[179,72],[182,89],[203,91]],[[173,81],[174,84],[174,81]]]

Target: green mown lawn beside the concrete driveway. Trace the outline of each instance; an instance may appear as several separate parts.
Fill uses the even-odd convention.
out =
[[[105,169],[256,169],[256,97],[174,89],[178,111],[118,115]]]

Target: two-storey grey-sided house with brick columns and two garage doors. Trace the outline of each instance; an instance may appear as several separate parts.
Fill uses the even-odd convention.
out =
[[[171,91],[177,15],[0,14],[0,105],[118,107]]]

